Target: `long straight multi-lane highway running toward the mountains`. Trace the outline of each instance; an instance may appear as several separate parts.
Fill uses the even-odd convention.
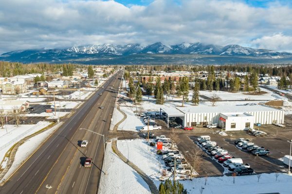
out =
[[[122,72],[115,74],[118,78]],[[0,187],[0,194],[95,194],[120,80],[112,76]],[[100,95],[102,93],[102,95]],[[104,109],[99,107],[103,106]],[[80,128],[84,128],[81,129]],[[87,147],[78,141],[88,140]],[[84,167],[86,157],[92,167]]]

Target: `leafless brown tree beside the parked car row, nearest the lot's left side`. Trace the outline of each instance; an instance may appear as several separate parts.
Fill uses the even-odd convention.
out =
[[[191,179],[193,172],[200,172],[201,171],[201,165],[202,165],[202,156],[204,152],[198,147],[195,146],[188,154],[186,155],[187,161],[189,162],[191,166]],[[207,182],[207,178],[205,179],[205,185]]]

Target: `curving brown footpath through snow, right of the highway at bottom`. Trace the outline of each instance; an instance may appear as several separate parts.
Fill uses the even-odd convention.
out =
[[[157,187],[155,186],[154,182],[140,169],[138,168],[135,164],[130,162],[117,148],[117,140],[113,140],[111,144],[111,148],[114,151],[116,155],[120,157],[122,161],[124,161],[126,164],[128,164],[132,169],[134,169],[147,183],[149,186],[149,189],[152,194],[159,194]]]

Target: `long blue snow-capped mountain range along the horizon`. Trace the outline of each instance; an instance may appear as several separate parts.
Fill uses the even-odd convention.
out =
[[[157,42],[151,45],[141,44],[128,44],[128,45],[115,45],[115,44],[102,44],[102,45],[87,45],[77,46],[68,49],[28,49],[28,50],[17,50],[7,52],[0,55],[0,61],[12,61],[12,62],[23,62],[23,63],[37,63],[37,62],[65,62],[70,61],[76,62],[90,62],[94,61],[97,64],[100,60],[116,59],[116,64],[119,64],[119,60],[137,63],[137,60],[154,59],[153,57],[159,54],[168,54],[175,56],[176,54],[185,55],[180,56],[182,63],[195,63],[198,60],[198,55],[204,58],[208,58],[212,55],[214,57],[229,56],[229,57],[254,57],[264,59],[265,63],[270,59],[283,59],[292,58],[292,53],[289,52],[277,52],[267,49],[252,49],[247,47],[241,47],[239,45],[227,45],[225,47],[213,44],[203,44],[200,42],[196,43],[181,43],[177,45],[165,45],[161,42]],[[149,57],[151,55],[151,57]],[[135,57],[136,56],[136,57]],[[146,57],[147,56],[147,57]],[[145,58],[143,58],[145,57]],[[165,56],[164,56],[165,58]],[[175,57],[172,57],[175,58]],[[195,59],[195,60],[194,60]],[[218,58],[219,59],[219,58]],[[142,60],[142,61],[143,61]],[[208,59],[211,63],[211,59]],[[221,58],[220,58],[221,60]],[[228,58],[224,59],[228,61]],[[251,63],[249,58],[247,61]],[[138,61],[141,62],[142,61]],[[186,61],[186,62],[185,62]],[[279,60],[278,60],[279,61]],[[212,62],[213,63],[213,62]],[[223,62],[220,62],[223,63]]]

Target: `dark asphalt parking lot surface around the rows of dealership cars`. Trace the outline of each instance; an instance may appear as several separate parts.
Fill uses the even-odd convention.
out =
[[[194,146],[197,146],[197,137],[201,135],[209,135],[211,141],[217,142],[217,144],[224,149],[228,150],[228,153],[235,157],[241,158],[243,163],[249,163],[255,173],[272,173],[272,172],[287,172],[288,166],[283,164],[281,159],[285,155],[289,155],[290,144],[287,142],[292,139],[292,116],[286,116],[286,128],[279,128],[274,125],[267,125],[259,127],[260,130],[268,133],[265,137],[254,137],[246,131],[228,131],[228,136],[221,136],[215,131],[219,129],[207,129],[207,128],[195,128],[192,131],[179,130],[180,143],[178,144],[179,150],[184,152],[191,151]],[[159,125],[162,125],[163,129],[155,131],[155,135],[169,135],[170,130],[165,127],[163,120],[156,119]],[[257,127],[255,127],[257,129]],[[237,138],[249,139],[255,145],[263,146],[271,151],[268,156],[255,156],[250,152],[237,148],[234,144],[234,140]],[[226,171],[225,171],[226,172]],[[205,153],[203,157],[202,169],[200,177],[206,176],[222,176],[224,168],[213,160],[209,154]],[[232,173],[225,173],[227,176],[231,176]]]

